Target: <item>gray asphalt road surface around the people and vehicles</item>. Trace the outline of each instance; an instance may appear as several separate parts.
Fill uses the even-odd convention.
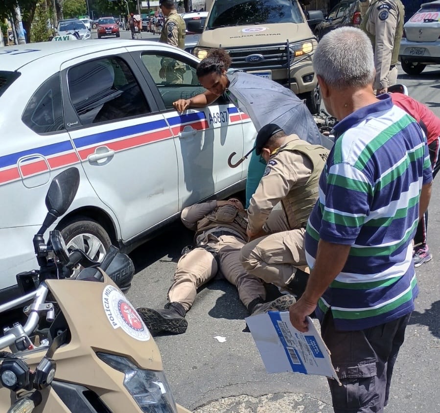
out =
[[[410,95],[440,116],[440,67],[417,77],[399,70]],[[440,413],[439,193],[437,180],[429,208],[434,258],[417,269],[420,294],[397,359],[387,413]],[[192,234],[176,223],[131,254],[137,274],[128,298],[136,307],[162,308],[180,252],[191,241]],[[199,292],[185,334],[156,337],[176,401],[197,413],[332,412],[324,377],[265,372],[251,334],[244,331],[247,315],[235,288],[216,280]]]

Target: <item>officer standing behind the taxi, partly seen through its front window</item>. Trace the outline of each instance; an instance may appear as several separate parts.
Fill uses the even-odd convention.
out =
[[[184,50],[186,24],[182,16],[177,13],[174,0],[160,0],[159,7],[165,16],[159,41]],[[167,83],[184,83],[185,66],[183,63],[164,57],[161,64],[159,76],[162,79],[165,79]]]

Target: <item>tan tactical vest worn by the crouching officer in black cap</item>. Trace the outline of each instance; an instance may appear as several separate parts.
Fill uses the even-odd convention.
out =
[[[293,187],[287,196],[281,200],[289,228],[305,227],[309,215],[318,200],[319,177],[324,169],[328,150],[323,146],[310,145],[310,143],[304,140],[295,139],[288,142],[285,146],[281,146],[276,154],[282,151],[301,152],[313,164],[313,170],[307,183],[304,186]]]

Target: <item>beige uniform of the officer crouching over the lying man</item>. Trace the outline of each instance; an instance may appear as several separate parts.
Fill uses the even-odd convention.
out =
[[[311,145],[297,135],[269,160],[248,208],[248,229],[266,235],[241,250],[243,268],[267,283],[284,287],[296,268],[307,265],[305,226],[318,199],[318,182],[328,150]],[[273,209],[281,202],[282,209]]]

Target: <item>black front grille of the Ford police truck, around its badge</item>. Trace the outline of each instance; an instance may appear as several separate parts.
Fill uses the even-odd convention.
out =
[[[232,59],[232,68],[242,70],[264,70],[264,69],[286,69],[287,68],[287,46],[271,45],[247,48],[227,48]],[[259,54],[264,60],[250,63],[246,58],[250,55]]]

